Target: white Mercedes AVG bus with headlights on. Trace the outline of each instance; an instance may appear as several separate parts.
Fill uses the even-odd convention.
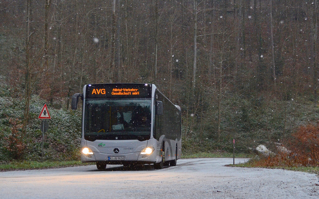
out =
[[[83,100],[81,161],[124,166],[175,166],[182,152],[181,108],[154,84],[87,84]]]

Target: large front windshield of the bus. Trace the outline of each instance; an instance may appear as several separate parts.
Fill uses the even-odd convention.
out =
[[[86,99],[86,140],[150,139],[151,99]]]

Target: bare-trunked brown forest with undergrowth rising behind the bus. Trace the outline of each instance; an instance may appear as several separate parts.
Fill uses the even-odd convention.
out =
[[[153,83],[183,153],[283,142],[316,124],[317,0],[1,0],[0,159],[78,158],[89,83]]]

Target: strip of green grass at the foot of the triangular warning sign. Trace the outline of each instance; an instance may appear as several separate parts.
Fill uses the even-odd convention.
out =
[[[61,167],[75,167],[85,166],[90,163],[82,163],[77,160],[70,161],[11,161],[9,163],[0,164],[0,171],[12,170],[29,170],[29,169],[44,169],[44,168],[61,168]]]

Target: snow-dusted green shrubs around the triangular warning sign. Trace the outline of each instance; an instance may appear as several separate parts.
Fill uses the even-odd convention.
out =
[[[0,86],[1,88],[1,86]],[[41,159],[41,119],[43,100],[32,96],[26,135],[21,137],[24,99],[12,98],[0,89],[0,159]],[[44,160],[79,160],[81,113],[54,109],[49,104],[51,119],[44,136]]]

